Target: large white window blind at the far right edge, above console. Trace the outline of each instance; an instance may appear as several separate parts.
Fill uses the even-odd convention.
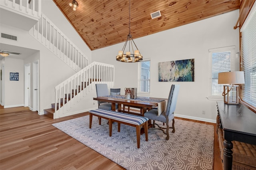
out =
[[[256,5],[254,4],[254,7]],[[252,12],[252,13],[251,13]],[[241,98],[249,105],[256,107],[256,10],[248,15],[242,32],[242,71],[245,84],[242,85]]]

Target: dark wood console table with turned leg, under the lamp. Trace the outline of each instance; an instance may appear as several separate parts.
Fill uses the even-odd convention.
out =
[[[239,105],[217,102],[220,128],[224,131],[224,170],[232,169],[232,141],[256,145],[256,113]]]

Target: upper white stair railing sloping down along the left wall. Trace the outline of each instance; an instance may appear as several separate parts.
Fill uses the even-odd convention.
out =
[[[44,14],[29,34],[76,72],[88,65],[88,58]]]

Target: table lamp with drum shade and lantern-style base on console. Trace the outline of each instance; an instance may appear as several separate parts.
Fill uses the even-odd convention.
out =
[[[239,104],[239,84],[244,84],[244,71],[229,71],[218,74],[218,84],[223,85],[224,103]]]

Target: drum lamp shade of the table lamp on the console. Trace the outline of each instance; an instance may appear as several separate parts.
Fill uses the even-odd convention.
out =
[[[218,84],[244,84],[244,71],[219,73]]]

